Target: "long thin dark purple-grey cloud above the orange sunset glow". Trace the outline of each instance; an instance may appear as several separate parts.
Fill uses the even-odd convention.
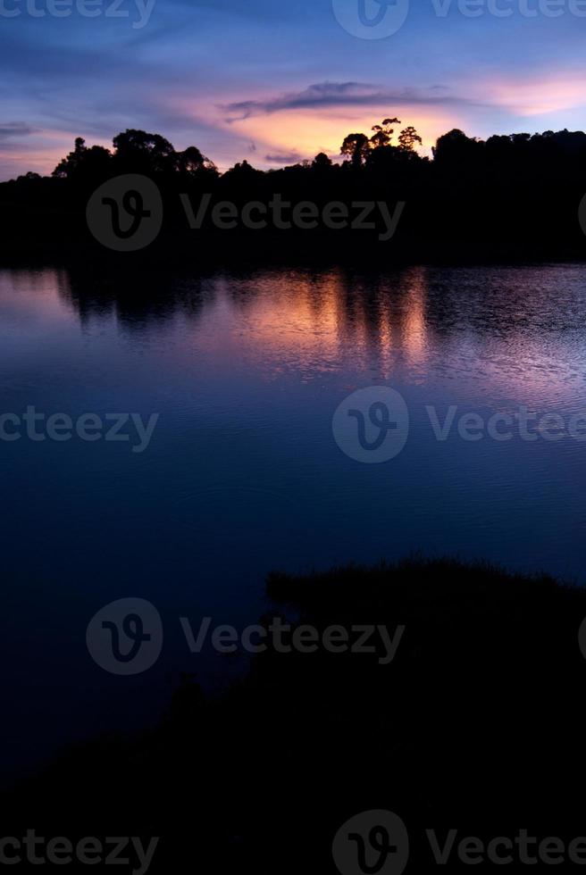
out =
[[[324,106],[372,106],[376,104],[468,104],[456,96],[438,96],[443,86],[435,85],[425,90],[404,88],[390,91],[362,82],[318,82],[305,91],[273,97],[270,100],[244,100],[224,104],[220,108],[228,112],[226,121],[241,121],[251,115],[265,115],[289,109],[311,109]]]

